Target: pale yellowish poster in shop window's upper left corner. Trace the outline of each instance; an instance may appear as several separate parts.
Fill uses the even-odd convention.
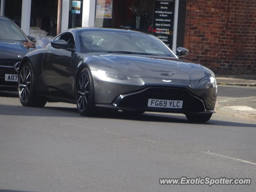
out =
[[[112,0],[97,0],[96,18],[112,19]]]

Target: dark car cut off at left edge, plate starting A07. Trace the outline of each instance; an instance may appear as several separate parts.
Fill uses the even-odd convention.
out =
[[[17,90],[18,72],[14,66],[36,48],[33,41],[14,22],[0,16],[0,90]]]

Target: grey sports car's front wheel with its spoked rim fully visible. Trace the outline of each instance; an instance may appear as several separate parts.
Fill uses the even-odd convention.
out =
[[[82,116],[94,114],[94,86],[92,76],[87,68],[84,68],[76,82],[76,106]]]

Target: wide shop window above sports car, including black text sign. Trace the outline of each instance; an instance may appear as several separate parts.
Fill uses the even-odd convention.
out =
[[[96,0],[95,26],[153,34],[172,48],[176,0]]]

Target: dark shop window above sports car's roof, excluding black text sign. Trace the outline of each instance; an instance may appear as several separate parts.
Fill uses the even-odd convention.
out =
[[[96,27],[151,33],[154,0],[97,0]]]

